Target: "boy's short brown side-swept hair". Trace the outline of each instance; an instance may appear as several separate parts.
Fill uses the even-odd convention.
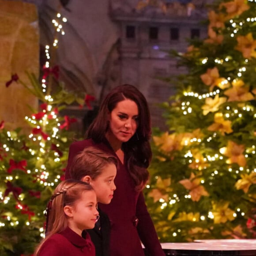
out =
[[[84,176],[95,180],[108,164],[118,166],[117,158],[96,147],[86,147],[77,154],[70,167],[70,176],[81,181]]]

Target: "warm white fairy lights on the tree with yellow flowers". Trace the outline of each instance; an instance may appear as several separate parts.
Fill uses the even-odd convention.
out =
[[[256,3],[256,0],[248,0],[250,2],[255,2]],[[252,17],[252,18],[247,18],[246,19],[246,22],[256,22],[256,17]],[[230,32],[230,37],[234,37],[235,34],[237,34],[238,30],[242,28],[242,26],[245,24],[245,21],[241,21],[239,23],[236,23],[234,22],[232,19],[230,20],[230,23],[231,23],[231,26],[233,27],[233,31]],[[216,64],[220,64],[222,65],[224,62],[228,62],[231,60],[231,57],[230,56],[226,56],[226,58],[224,59],[219,59],[219,58],[216,58],[215,59],[215,63]],[[205,57],[203,58],[203,60],[201,61],[202,64],[207,64],[207,61],[208,61],[208,58]],[[245,59],[244,60],[245,62],[245,65],[248,64],[248,59]],[[238,68],[237,69],[237,78],[241,78],[243,76],[243,72],[246,72],[246,67],[245,66],[242,66],[241,68]],[[231,81],[231,78],[228,77],[227,79],[225,79],[224,81],[222,81],[222,85],[225,86],[225,84],[229,83]],[[233,79],[233,81],[235,81],[235,79]],[[209,97],[214,97],[216,95],[218,95],[220,93],[220,90],[215,90],[215,91],[212,91],[212,92],[209,92],[209,93],[206,93],[206,94],[198,94],[198,93],[195,93],[195,92],[184,92],[184,96],[186,97],[195,97],[195,98],[198,98],[199,100],[204,100],[206,98],[209,98]],[[191,107],[191,104],[189,101],[186,101],[186,102],[181,102],[181,110],[183,111],[183,114],[184,115],[188,115],[190,113],[192,113],[192,107]],[[233,111],[232,113],[225,113],[225,117],[226,118],[229,118],[230,116],[233,117],[234,115],[237,115],[238,117],[242,117],[243,114],[237,109],[233,109],[231,108],[231,106],[226,106],[226,110],[227,111]],[[245,105],[245,106],[242,106],[241,107],[241,110],[242,111],[247,111],[247,112],[254,112],[254,107],[252,105]],[[254,114],[254,118],[256,118],[256,114]],[[207,138],[207,142],[210,142],[212,140],[212,137],[216,137],[217,136],[217,133],[214,132],[212,136],[210,136],[209,138]],[[192,138],[190,139],[190,143],[194,143],[194,142],[197,142],[197,143],[201,143],[201,139],[200,138]],[[188,142],[184,143],[184,145],[187,145]],[[222,154],[223,152],[220,150],[220,153]],[[248,154],[256,154],[256,146],[255,145],[251,145],[251,147],[247,147],[247,149],[245,150],[245,158],[248,158]],[[187,151],[187,153],[184,155],[184,158],[188,158],[188,163],[192,163],[192,158],[193,158],[193,154],[190,150]],[[220,155],[220,154],[214,154],[214,156],[210,156],[210,155],[206,155],[204,158],[203,158],[203,161],[204,162],[214,162],[216,160],[223,160],[223,156]],[[195,161],[199,162],[199,159],[195,159]],[[206,169],[207,167],[206,166],[203,166],[203,169]],[[250,172],[256,172],[256,168],[255,169],[248,169],[248,168],[244,168],[244,167],[239,167],[238,169],[233,169],[231,167],[228,168],[228,171],[229,172],[235,172],[236,174],[240,173],[240,172],[244,172],[246,171],[246,173],[250,173]],[[218,175],[218,170],[214,170],[212,173],[211,173],[211,177],[213,178],[215,175]],[[157,180],[158,179],[158,176],[155,176],[155,179]],[[204,184],[205,181],[202,179],[201,181],[201,184]],[[212,183],[209,182],[209,184],[211,185]],[[151,188],[151,185],[147,184],[146,185],[146,188]],[[190,200],[191,199],[191,195],[184,195],[184,198],[185,199],[188,199]],[[160,208],[163,210],[164,208],[166,208],[169,205],[173,205],[177,202],[180,201],[180,197],[177,196],[177,194],[173,194],[172,196],[169,196],[168,198],[168,201],[166,202],[165,199],[163,198],[160,198],[159,199],[159,202],[161,203],[161,206]],[[235,212],[233,213],[233,217],[236,218],[237,215],[241,215],[241,216],[245,216],[245,212],[241,211],[241,209],[238,207]],[[209,211],[207,216],[205,215],[200,215],[200,220],[201,221],[205,221],[207,218],[210,218],[210,219],[214,219],[215,216],[214,216],[214,213],[212,211]],[[196,218],[193,218],[192,221],[196,221]],[[177,229],[177,232],[181,232],[180,229]],[[177,236],[177,232],[173,232],[173,237],[176,237]]]

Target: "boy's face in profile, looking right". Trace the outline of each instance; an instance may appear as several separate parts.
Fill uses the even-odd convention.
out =
[[[117,167],[110,163],[102,170],[102,173],[94,180],[90,180],[90,185],[96,192],[97,201],[99,203],[108,204],[113,198],[116,185],[114,179],[117,175]]]

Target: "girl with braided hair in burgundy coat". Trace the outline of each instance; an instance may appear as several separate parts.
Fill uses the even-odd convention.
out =
[[[47,235],[35,256],[95,256],[90,235],[98,220],[96,194],[90,184],[62,181],[47,206]],[[82,235],[83,232],[83,235]]]

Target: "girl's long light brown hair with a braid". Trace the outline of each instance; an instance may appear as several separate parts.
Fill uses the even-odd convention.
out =
[[[61,233],[68,227],[68,220],[64,213],[64,206],[74,205],[84,191],[91,191],[93,188],[90,184],[83,181],[66,180],[62,181],[54,190],[47,205],[47,221],[45,230],[45,239],[36,248],[34,255],[38,256],[42,245],[55,233]]]

